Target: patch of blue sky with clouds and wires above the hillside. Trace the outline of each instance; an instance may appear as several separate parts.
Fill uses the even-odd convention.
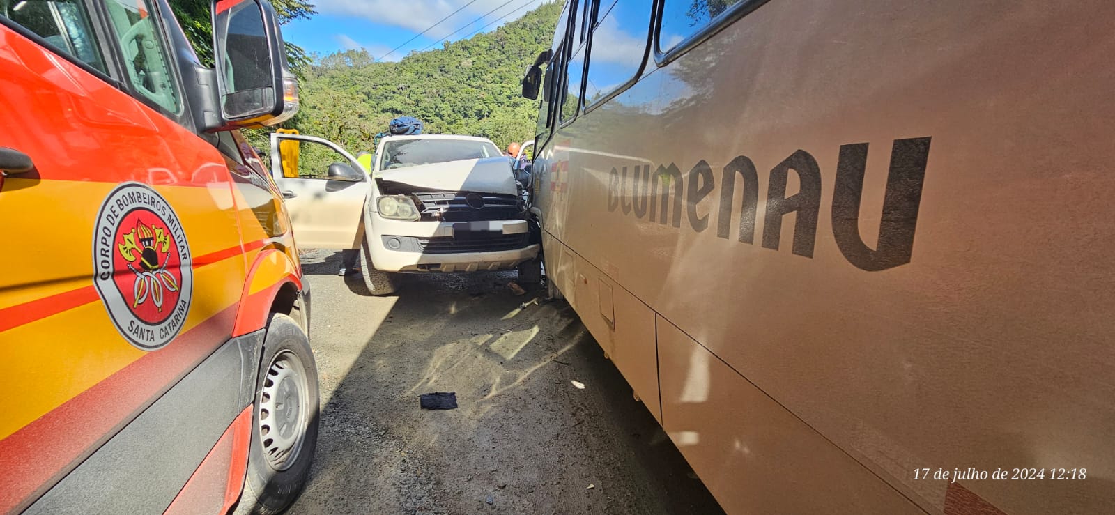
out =
[[[495,30],[546,1],[553,0],[311,0],[318,13],[309,20],[291,21],[282,32],[283,39],[308,52],[326,56],[362,47],[376,59],[397,61],[411,50],[430,45],[437,48],[446,37],[462,39],[508,14],[484,29]],[[457,9],[460,12],[385,57]]]

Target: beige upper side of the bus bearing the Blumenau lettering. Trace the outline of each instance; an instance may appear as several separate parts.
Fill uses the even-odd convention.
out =
[[[1007,513],[1103,511],[1113,9],[768,2],[554,136],[546,227],[925,509],[953,488],[915,469],[1056,467],[1087,478],[961,483]],[[910,222],[883,206],[914,140],[892,259],[874,251]]]

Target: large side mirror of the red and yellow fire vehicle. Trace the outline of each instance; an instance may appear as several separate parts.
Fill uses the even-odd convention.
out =
[[[294,116],[298,80],[270,2],[215,0],[213,49],[226,128],[271,126]]]

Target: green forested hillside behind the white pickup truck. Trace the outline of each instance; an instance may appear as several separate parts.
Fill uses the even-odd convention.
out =
[[[302,109],[284,125],[353,153],[370,150],[397,116],[421,119],[426,133],[485,136],[501,147],[530,139],[537,103],[520,96],[520,81],[553,40],[561,8],[545,3],[495,31],[399,62],[375,62],[365,50],[318,58],[304,74]]]

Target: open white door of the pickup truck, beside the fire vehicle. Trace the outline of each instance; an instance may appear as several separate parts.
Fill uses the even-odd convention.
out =
[[[271,174],[285,197],[300,247],[360,247],[371,182],[356,157],[328,139],[274,133]]]

